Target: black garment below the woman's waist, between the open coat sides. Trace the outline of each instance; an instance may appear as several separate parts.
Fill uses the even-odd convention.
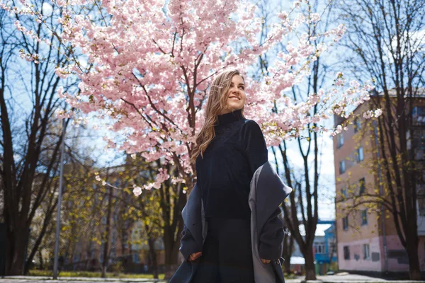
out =
[[[210,218],[192,283],[254,283],[250,219]]]

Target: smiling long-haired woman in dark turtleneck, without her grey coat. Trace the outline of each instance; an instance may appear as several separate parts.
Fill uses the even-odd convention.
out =
[[[192,283],[254,283],[249,193],[254,172],[268,161],[268,151],[259,125],[243,115],[245,100],[244,78],[237,69],[215,77],[191,159],[196,161],[208,232],[202,246],[186,226],[181,238],[185,260],[196,262]],[[274,228],[259,237],[259,256],[266,265],[280,258],[284,237],[278,205],[273,210],[268,223]]]

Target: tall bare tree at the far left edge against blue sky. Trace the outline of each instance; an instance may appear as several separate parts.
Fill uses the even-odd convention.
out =
[[[36,1],[35,5],[40,8],[44,2]],[[51,197],[50,176],[57,173],[55,164],[59,158],[61,138],[55,139],[55,144],[46,141],[55,136],[48,130],[52,115],[55,110],[63,108],[56,96],[63,80],[55,74],[55,67],[67,65],[69,52],[62,52],[54,43],[45,45],[38,42],[13,25],[14,20],[19,20],[21,25],[31,25],[33,30],[37,30],[38,37],[47,37],[50,42],[55,42],[55,33],[47,35],[42,23],[21,17],[18,13],[14,14],[15,19],[4,10],[0,13],[0,178],[8,242],[6,274],[22,275],[31,222],[40,204],[46,197]],[[52,17],[50,21],[52,30],[55,30]],[[24,63],[20,52],[37,55]],[[51,158],[49,162],[41,163],[40,156],[47,146],[51,150]],[[35,184],[40,174],[44,177]],[[51,203],[55,205],[54,198]]]

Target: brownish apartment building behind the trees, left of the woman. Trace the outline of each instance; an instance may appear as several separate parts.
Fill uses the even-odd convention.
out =
[[[141,219],[123,218],[125,207],[130,197],[120,187],[125,184],[120,173],[126,170],[125,166],[113,166],[108,168],[108,183],[114,187],[107,186],[112,190],[113,204],[111,206],[111,235],[110,250],[108,257],[108,270],[120,270],[123,272],[152,272],[152,260],[149,256],[148,236]],[[104,176],[102,176],[105,178]],[[84,184],[99,190],[101,184],[96,180],[93,183]],[[106,192],[106,191],[105,191]],[[92,194],[92,207],[89,209],[91,216],[88,219],[72,219],[70,236],[64,240],[62,245],[62,270],[88,270],[100,271],[103,265],[105,250],[105,235],[108,225],[108,193],[102,195]],[[81,199],[79,199],[81,202]],[[62,204],[64,210],[67,207],[78,206],[79,203],[66,202]],[[83,213],[81,211],[81,213]],[[67,220],[64,219],[66,223]],[[81,229],[86,229],[81,231]],[[161,267],[165,262],[164,243],[162,238],[154,241],[154,250],[157,256],[157,265]]]

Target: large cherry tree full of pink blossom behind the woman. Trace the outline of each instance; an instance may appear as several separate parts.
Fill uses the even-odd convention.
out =
[[[22,0],[21,9],[8,4],[2,8],[44,21],[42,13],[28,2]],[[255,80],[246,76],[246,116],[262,126],[268,146],[299,137],[309,123],[334,114],[348,115],[346,108],[368,100],[372,89],[370,84],[356,81],[345,86],[340,74],[333,88],[310,93],[305,101],[285,96],[285,91],[310,74],[312,62],[345,30],[338,25],[314,38],[300,31],[302,23],[320,21],[319,13],[302,13],[303,1],[294,1],[289,11],[278,12],[278,21],[261,41],[262,20],[255,16],[256,6],[244,0],[54,2],[61,13],[57,18],[62,25],[60,38],[67,50],[72,50],[69,59],[73,62],[57,68],[57,74],[80,79],[79,92],[60,89],[59,96],[81,114],[107,118],[109,129],[123,133],[121,144],[108,140],[108,146],[129,154],[141,152],[147,161],[164,157],[178,166],[179,178],[174,182],[186,183],[185,189],[193,187],[195,168],[189,158],[203,124],[208,87],[222,69],[247,70],[259,55],[273,50],[286,37],[297,39],[277,53],[267,76]],[[84,6],[95,8],[84,10]],[[31,33],[18,21],[16,26]],[[323,40],[315,46],[312,42],[317,37]],[[49,44],[42,38],[35,40]],[[42,60],[36,54],[22,56]],[[277,109],[271,112],[274,105]],[[313,107],[318,111],[312,116],[308,113]],[[331,134],[342,130],[341,126],[314,129]],[[158,188],[169,178],[160,170],[156,181],[143,188]]]

